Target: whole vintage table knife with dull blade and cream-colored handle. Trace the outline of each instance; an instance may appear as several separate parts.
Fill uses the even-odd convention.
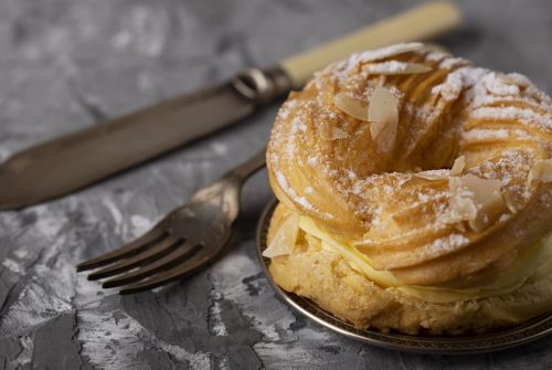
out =
[[[219,86],[23,150],[0,166],[0,210],[67,194],[226,127],[353,52],[428,40],[459,23],[453,3],[431,2],[287,57],[275,67],[248,68]]]

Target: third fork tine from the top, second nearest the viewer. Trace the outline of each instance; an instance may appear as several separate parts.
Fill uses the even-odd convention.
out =
[[[119,275],[102,284],[103,288],[114,288],[121,285],[137,283],[147,277],[155,275],[157,272],[173,267],[182,262],[183,258],[189,258],[198,252],[198,245],[184,244],[169,252],[166,256],[157,260],[149,265],[137,268],[136,271]]]

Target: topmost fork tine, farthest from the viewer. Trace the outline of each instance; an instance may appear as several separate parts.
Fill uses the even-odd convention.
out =
[[[125,246],[121,246],[115,251],[105,253],[100,256],[91,258],[88,261],[82,262],[78,265],[76,265],[76,271],[82,272],[82,271],[87,271],[96,267],[102,267],[107,264],[110,264],[113,262],[116,262],[120,258],[125,258],[131,255],[135,255],[137,253],[140,253],[145,247],[150,245],[151,243],[160,241],[162,237],[166,236],[164,230],[161,228],[155,226],[150,231],[148,231],[146,234],[141,235],[137,240],[126,244]]]

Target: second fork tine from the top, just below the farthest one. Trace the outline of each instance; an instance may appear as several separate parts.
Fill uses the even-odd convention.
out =
[[[168,236],[166,239],[162,239],[160,243],[153,244],[151,247],[132,257],[119,261],[113,265],[89,274],[88,279],[97,281],[98,278],[109,277],[127,272],[136,266],[146,264],[151,260],[157,260],[160,256],[163,256],[164,254],[167,254],[167,252],[169,252],[172,247],[179,245],[180,243],[182,243],[182,240]]]

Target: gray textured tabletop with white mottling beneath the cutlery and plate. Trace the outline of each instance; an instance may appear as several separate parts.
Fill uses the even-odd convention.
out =
[[[0,0],[0,160],[104,117],[231,76],[416,1]],[[550,0],[458,1],[444,43],[552,91]],[[119,297],[74,271],[115,249],[261,148],[276,107],[231,130],[74,195],[0,213],[0,368],[552,367],[552,338],[488,356],[432,357],[344,339],[294,315],[254,257],[269,199],[244,192],[242,242],[208,271]],[[0,191],[7,191],[0,189]]]

